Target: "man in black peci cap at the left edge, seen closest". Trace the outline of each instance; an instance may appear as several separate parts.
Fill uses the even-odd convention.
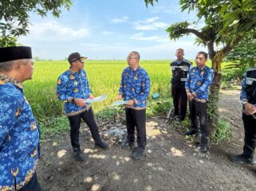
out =
[[[39,131],[22,85],[32,75],[30,47],[0,48],[0,190],[41,190]]]

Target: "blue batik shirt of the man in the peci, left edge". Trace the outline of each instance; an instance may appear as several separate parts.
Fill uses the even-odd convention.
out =
[[[28,183],[35,172],[39,131],[23,86],[0,74],[0,190]]]

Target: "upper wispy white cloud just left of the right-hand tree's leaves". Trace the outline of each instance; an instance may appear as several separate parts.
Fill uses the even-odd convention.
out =
[[[134,23],[135,29],[137,30],[157,30],[157,29],[164,29],[168,26],[167,23],[158,21],[159,18],[148,18],[144,21],[136,21]]]

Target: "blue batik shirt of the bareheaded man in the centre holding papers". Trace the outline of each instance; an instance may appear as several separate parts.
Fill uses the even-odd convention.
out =
[[[134,100],[131,108],[136,110],[146,108],[149,92],[150,80],[144,68],[140,68],[140,66],[136,70],[130,67],[124,68],[119,93],[124,100]]]

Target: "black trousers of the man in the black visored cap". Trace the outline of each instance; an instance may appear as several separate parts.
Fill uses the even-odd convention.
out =
[[[89,130],[93,136],[94,142],[100,143],[101,138],[99,134],[98,127],[96,125],[96,121],[93,115],[92,107],[89,108],[88,111],[84,111],[80,114],[69,116],[69,125],[70,125],[70,138],[71,138],[71,145],[73,146],[73,150],[80,150],[79,144],[79,129],[81,124],[81,119],[85,121],[88,125]]]

